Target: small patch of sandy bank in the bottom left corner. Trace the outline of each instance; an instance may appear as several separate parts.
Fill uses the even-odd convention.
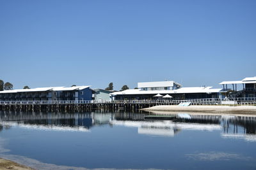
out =
[[[11,160],[1,159],[0,158],[0,169],[3,170],[33,170],[30,167],[22,166],[20,164],[17,164]]]

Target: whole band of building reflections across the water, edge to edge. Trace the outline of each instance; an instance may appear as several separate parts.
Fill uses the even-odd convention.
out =
[[[100,125],[137,127],[138,134],[175,136],[180,131],[221,131],[223,138],[256,141],[256,117],[250,115],[175,114],[175,120],[145,121],[148,113],[22,113],[0,112],[0,131],[24,127],[53,131],[83,131]]]

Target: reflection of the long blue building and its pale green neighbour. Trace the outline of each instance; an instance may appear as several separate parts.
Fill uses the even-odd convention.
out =
[[[35,125],[41,129],[47,127],[83,127],[90,129],[94,125],[109,124],[109,119],[113,118],[112,113],[0,113],[0,124],[8,123],[12,125]],[[17,123],[16,123],[17,122]],[[15,124],[14,124],[15,123]]]

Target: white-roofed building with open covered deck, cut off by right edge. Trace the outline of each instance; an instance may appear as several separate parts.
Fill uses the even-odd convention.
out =
[[[238,81],[222,81],[220,85],[223,85],[223,90],[233,92],[233,97],[256,97],[256,76]],[[238,89],[238,85],[243,85],[242,89]]]

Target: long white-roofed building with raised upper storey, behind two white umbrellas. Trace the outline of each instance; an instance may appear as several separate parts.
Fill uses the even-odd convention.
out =
[[[212,87],[181,87],[175,81],[155,81],[138,83],[138,89],[129,89],[121,92],[113,92],[113,100],[144,100],[159,99],[154,96],[168,94],[172,99],[205,99],[221,97],[222,89]]]

